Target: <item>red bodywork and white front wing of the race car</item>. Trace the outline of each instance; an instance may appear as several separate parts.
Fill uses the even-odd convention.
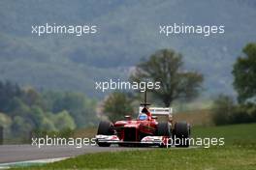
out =
[[[155,112],[153,112],[155,114]],[[164,113],[166,115],[166,113]],[[99,127],[103,129],[103,132],[98,132],[96,135],[96,141],[99,146],[110,146],[111,144],[118,145],[132,145],[132,146],[166,146],[167,140],[170,135],[166,135],[162,131],[159,131],[159,124],[156,121],[156,117],[144,108],[140,108],[140,114],[137,120],[131,120],[130,116],[126,116],[126,121],[117,121],[114,124],[106,123],[100,124],[105,127]],[[169,123],[167,123],[168,126]],[[109,128],[108,128],[109,126]],[[108,133],[105,133],[109,129]],[[158,129],[159,128],[159,129]],[[168,128],[168,127],[167,127]],[[170,130],[170,128],[166,129]]]

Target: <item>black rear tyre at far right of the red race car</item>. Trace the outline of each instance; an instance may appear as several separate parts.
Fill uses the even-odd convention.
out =
[[[173,141],[176,147],[189,147],[190,126],[186,122],[175,124]]]

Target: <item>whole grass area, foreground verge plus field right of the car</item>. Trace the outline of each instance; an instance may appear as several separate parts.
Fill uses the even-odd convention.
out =
[[[256,169],[256,124],[195,127],[194,137],[225,137],[221,147],[88,154],[24,169]]]

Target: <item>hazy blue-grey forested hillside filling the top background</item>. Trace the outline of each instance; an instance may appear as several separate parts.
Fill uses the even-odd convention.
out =
[[[252,1],[0,1],[0,79],[103,97],[94,81],[126,79],[127,72],[159,48],[184,55],[185,69],[205,75],[205,94],[234,95],[232,65],[242,46],[255,42]],[[31,25],[96,24],[96,36],[31,34]],[[225,34],[163,37],[159,24],[224,24]]]

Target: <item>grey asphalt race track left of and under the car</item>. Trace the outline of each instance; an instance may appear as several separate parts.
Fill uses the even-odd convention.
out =
[[[0,145],[0,163],[9,163],[25,160],[35,160],[43,158],[71,157],[82,154],[99,152],[116,152],[128,150],[144,150],[148,148],[124,148],[124,147],[98,147],[83,146],[43,146],[38,148],[32,145]]]

